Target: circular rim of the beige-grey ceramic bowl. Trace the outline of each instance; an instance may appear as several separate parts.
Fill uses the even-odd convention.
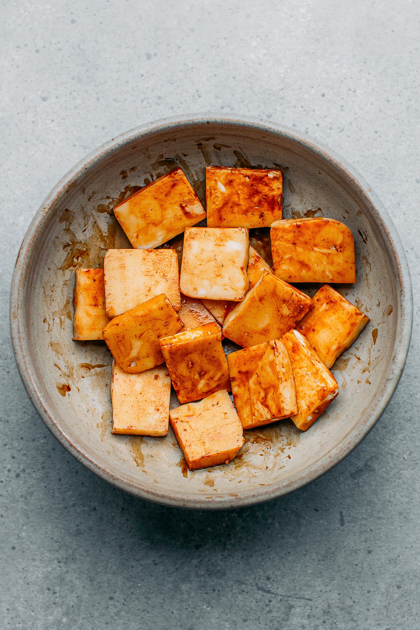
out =
[[[28,338],[25,335],[25,304],[23,302],[23,296],[26,289],[24,282],[26,266],[28,265],[28,261],[30,259],[31,248],[35,242],[38,231],[42,228],[44,221],[48,220],[48,214],[60,195],[62,195],[65,190],[67,190],[67,188],[69,188],[69,186],[82,175],[82,173],[92,166],[92,164],[99,159],[103,159],[103,157],[106,157],[108,154],[111,154],[111,152],[123,144],[131,142],[136,137],[143,137],[144,135],[153,134],[154,132],[170,132],[171,130],[179,129],[179,127],[190,127],[200,124],[225,124],[232,127],[251,127],[254,130],[258,129],[260,132],[270,134],[274,133],[280,137],[292,140],[305,147],[307,150],[315,152],[326,159],[331,166],[341,171],[341,173],[348,178],[349,183],[357,188],[358,192],[366,198],[366,202],[370,205],[377,223],[382,228],[384,238],[389,241],[390,248],[393,251],[400,284],[400,292],[398,296],[399,320],[397,319],[397,324],[399,323],[400,326],[397,328],[395,333],[394,355],[390,361],[389,373],[382,384],[382,392],[379,392],[378,400],[373,402],[372,410],[370,411],[370,414],[366,415],[365,420],[359,422],[355,427],[353,427],[344,439],[331,449],[327,455],[324,455],[315,462],[312,462],[312,464],[309,464],[309,466],[305,467],[303,471],[300,471],[300,473],[292,475],[276,484],[271,484],[270,486],[260,486],[258,491],[249,491],[237,497],[215,497],[212,500],[205,497],[188,498],[188,496],[172,496],[167,491],[156,491],[154,488],[139,488],[139,486],[132,483],[128,478],[124,479],[121,476],[116,476],[106,470],[106,467],[96,461],[89,452],[84,450],[82,445],[77,444],[77,440],[72,441],[69,436],[67,436],[65,432],[59,428],[52,410],[50,410],[48,404],[42,398],[42,393],[38,390],[37,384],[33,378],[35,366],[31,362],[30,347]],[[162,118],[161,120],[146,123],[108,140],[105,144],[99,146],[97,149],[94,149],[94,151],[89,153],[88,156],[82,158],[81,161],[70,169],[57,183],[57,185],[54,186],[33,217],[30,226],[26,231],[25,237],[23,238],[23,242],[16,259],[11,283],[10,328],[14,357],[16,358],[16,364],[18,365],[23,385],[25,386],[31,403],[50,432],[52,432],[54,437],[59,440],[60,444],[62,444],[65,449],[76,457],[79,462],[88,467],[89,470],[98,474],[101,478],[106,479],[106,481],[114,484],[121,490],[127,491],[132,495],[139,496],[140,498],[144,498],[145,500],[162,503],[164,505],[198,509],[245,507],[285,495],[293,490],[297,490],[307,483],[310,483],[310,481],[314,481],[314,479],[317,479],[319,476],[341,462],[346,455],[348,455],[358,444],[360,444],[361,440],[363,440],[368,432],[370,432],[370,430],[372,430],[375,426],[389,403],[395,388],[397,387],[406,363],[412,328],[411,280],[406,255],[389,214],[383,207],[377,195],[372,192],[368,183],[366,183],[366,181],[359,175],[355,168],[348,164],[348,162],[341,158],[336,152],[331,151],[331,149],[326,147],[324,144],[318,142],[318,140],[313,139],[307,134],[279,125],[278,123],[267,122],[261,118],[233,114],[220,115],[219,113],[188,114]]]

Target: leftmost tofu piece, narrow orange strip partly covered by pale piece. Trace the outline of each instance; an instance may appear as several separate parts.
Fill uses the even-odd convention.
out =
[[[103,269],[76,269],[74,275],[73,339],[103,339],[102,331],[110,321],[105,310]]]

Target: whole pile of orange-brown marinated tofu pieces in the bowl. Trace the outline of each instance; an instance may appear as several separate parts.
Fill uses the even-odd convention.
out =
[[[353,236],[282,219],[282,193],[280,170],[208,166],[206,213],[176,168],[114,208],[133,249],[76,270],[74,289],[74,340],[103,339],[114,358],[113,433],[162,436],[170,422],[196,470],[233,459],[244,429],[292,418],[306,431],[336,398],[329,368],[369,319],[328,284],[311,299],[289,283],[356,282]],[[273,268],[249,246],[269,226]],[[182,232],[179,275],[161,246]],[[224,338],[239,349],[226,356]]]

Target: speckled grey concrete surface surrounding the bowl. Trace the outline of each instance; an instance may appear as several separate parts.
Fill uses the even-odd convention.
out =
[[[420,4],[1,3],[0,627],[420,627]],[[137,500],[48,433],[9,340],[14,260],[59,178],[115,134],[235,112],[308,132],[382,199],[411,264],[406,370],[358,449],[258,507]]]

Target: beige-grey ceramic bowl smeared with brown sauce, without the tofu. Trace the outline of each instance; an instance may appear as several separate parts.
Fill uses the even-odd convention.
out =
[[[281,168],[284,217],[333,217],[355,236],[356,285],[337,285],[371,319],[334,365],[340,394],[306,433],[290,420],[246,432],[230,464],[190,473],[174,435],[111,435],[111,358],[72,341],[76,267],[128,246],[112,207],[176,164],[201,200],[206,164]],[[311,287],[313,295],[316,287]],[[133,129],[91,153],[55,186],[20,249],[11,290],[14,353],[39,415],[74,457],[133,495],[188,508],[275,498],[331,469],[365,437],[406,361],[412,301],[395,228],[354,169],[304,134],[241,117],[194,115]]]

